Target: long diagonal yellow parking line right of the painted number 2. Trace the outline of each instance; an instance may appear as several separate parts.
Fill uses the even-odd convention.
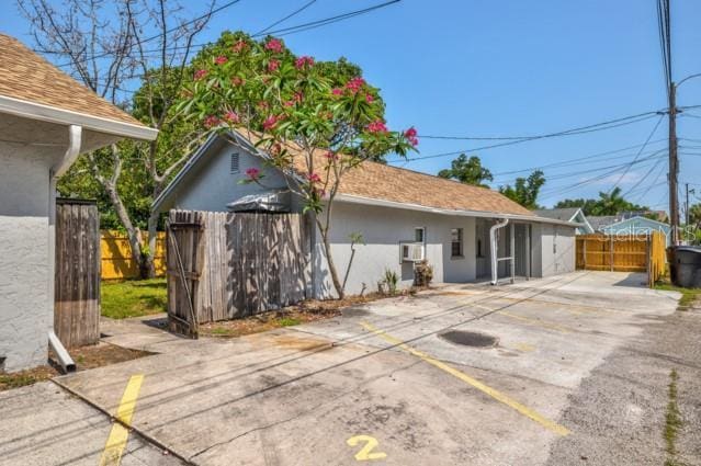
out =
[[[538,412],[533,411],[532,409],[530,409],[527,406],[521,405],[520,402],[516,401],[515,399],[511,399],[509,396],[495,390],[491,387],[488,387],[487,385],[483,384],[482,382],[477,380],[476,378],[473,378],[471,376],[468,376],[467,374],[460,372],[451,366],[449,366],[448,364],[429,356],[428,354],[415,350],[414,348],[409,346],[408,344],[406,344],[405,342],[403,342],[402,340],[392,337],[391,334],[386,333],[384,330],[380,330],[377,328],[375,328],[374,326],[368,323],[368,322],[361,322],[361,325],[363,326],[363,328],[368,331],[371,331],[373,333],[375,333],[378,337],[382,337],[383,339],[385,339],[386,341],[388,341],[392,344],[397,345],[397,348],[403,349],[404,351],[406,351],[409,354],[412,354],[419,359],[421,359],[422,361],[442,370],[445,371],[446,373],[449,373],[450,375],[452,375],[453,377],[456,377],[461,380],[463,380],[464,383],[466,383],[467,385],[471,385],[472,387],[478,389],[479,391],[489,395],[491,398],[496,399],[497,401],[502,402],[504,405],[508,406],[509,408],[512,408],[515,410],[517,410],[518,412],[520,412],[521,414],[525,416],[527,418],[538,422],[539,424],[543,425],[545,429],[555,432],[558,435],[568,435],[570,432],[567,428],[565,428],[564,425],[561,425],[554,421],[551,421],[550,419],[539,414]]]

